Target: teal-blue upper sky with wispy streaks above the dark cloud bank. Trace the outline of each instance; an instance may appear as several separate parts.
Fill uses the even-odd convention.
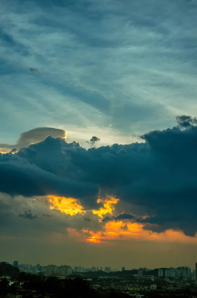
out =
[[[0,15],[0,143],[55,127],[127,144],[196,116],[196,0],[7,0]]]

